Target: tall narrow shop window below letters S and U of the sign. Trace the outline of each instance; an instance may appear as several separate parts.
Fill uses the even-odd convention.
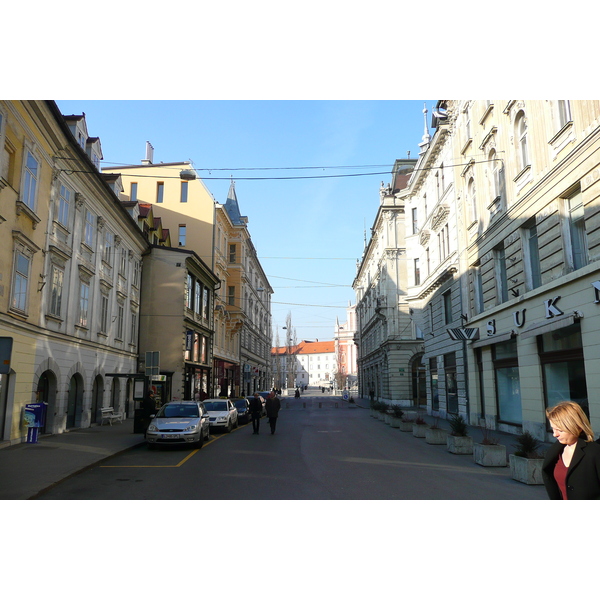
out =
[[[493,356],[498,420],[520,425],[523,421],[523,414],[516,339],[495,344]]]

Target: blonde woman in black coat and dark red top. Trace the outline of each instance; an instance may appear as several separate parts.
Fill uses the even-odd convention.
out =
[[[583,409],[560,402],[546,416],[557,440],[542,467],[550,500],[600,500],[600,444]]]

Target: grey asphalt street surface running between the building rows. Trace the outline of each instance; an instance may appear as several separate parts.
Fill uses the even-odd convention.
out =
[[[508,468],[476,465],[329,394],[282,398],[266,418],[211,433],[200,450],[145,446],[56,485],[41,500],[545,500]]]

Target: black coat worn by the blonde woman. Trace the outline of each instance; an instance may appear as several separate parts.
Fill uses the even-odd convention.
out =
[[[564,444],[556,442],[546,453],[542,476],[550,500],[562,500],[558,484],[554,480],[554,466],[562,453]],[[586,442],[581,438],[567,470],[568,500],[600,500],[600,444]]]

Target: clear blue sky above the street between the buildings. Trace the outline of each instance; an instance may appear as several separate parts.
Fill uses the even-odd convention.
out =
[[[233,177],[281,340],[288,312],[298,340],[332,339],[336,317],[346,320],[379,187],[396,159],[417,157],[433,102],[57,101],[63,114],[85,112],[105,166],[139,164],[148,140],[154,162],[191,159],[218,202]],[[277,179],[331,175],[344,177]]]

